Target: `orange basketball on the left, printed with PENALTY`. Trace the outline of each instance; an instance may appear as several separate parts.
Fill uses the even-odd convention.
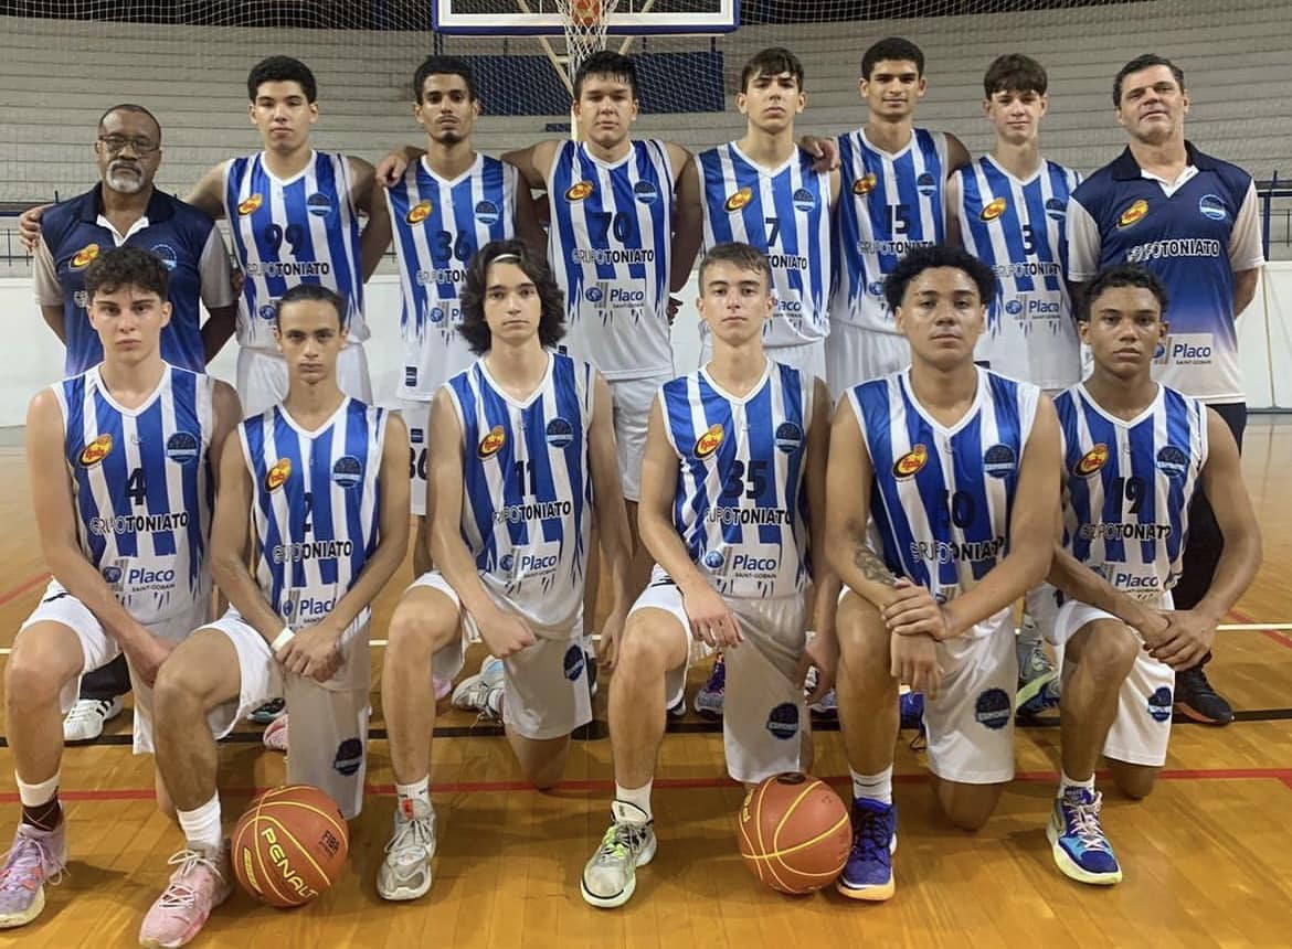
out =
[[[270,788],[234,829],[234,873],[270,906],[300,906],[336,882],[350,848],[340,808],[307,784]]]

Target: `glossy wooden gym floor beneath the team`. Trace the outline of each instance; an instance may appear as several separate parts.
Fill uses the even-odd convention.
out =
[[[420,901],[386,904],[373,879],[394,801],[377,696],[381,656],[373,647],[370,793],[351,825],[349,874],[315,904],[292,912],[238,892],[193,945],[1292,945],[1292,593],[1284,572],[1292,563],[1292,425],[1255,417],[1244,469],[1265,532],[1265,566],[1230,617],[1252,629],[1222,633],[1208,669],[1239,720],[1224,730],[1180,724],[1168,770],[1147,801],[1107,791],[1103,824],[1125,872],[1120,886],[1074,883],[1052,862],[1044,826],[1058,730],[1050,722],[1018,731],[1018,779],[975,835],[939,821],[922,755],[908,748],[912,735],[903,732],[897,896],[871,905],[833,891],[778,895],[742,865],[734,838],[742,790],[725,776],[720,732],[691,714],[671,724],[660,753],[654,795],[659,855],[640,872],[630,904],[597,910],[583,903],[578,882],[607,822],[609,740],[575,741],[567,780],[541,794],[517,780],[495,727],[475,724],[446,702],[433,753],[435,882]],[[0,474],[12,485],[0,498],[0,643],[8,646],[47,573],[21,448],[0,448]],[[406,566],[401,582],[379,600],[373,638],[384,638],[410,571]],[[605,696],[603,689],[597,699],[602,720]],[[152,804],[151,760],[130,755],[129,720],[123,714],[97,744],[67,749],[62,799],[68,873],[47,888],[41,918],[0,934],[0,946],[136,944],[181,838]],[[815,771],[846,793],[839,733],[820,731],[817,749]],[[5,839],[18,817],[10,773],[9,753],[0,748]],[[251,789],[279,784],[283,773],[282,758],[261,749],[253,726],[233,736],[221,750],[226,824]]]

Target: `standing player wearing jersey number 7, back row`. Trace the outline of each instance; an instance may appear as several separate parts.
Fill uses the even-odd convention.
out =
[[[806,105],[802,63],[779,46],[756,53],[735,102],[748,119],[744,138],[695,156],[704,245],[735,240],[767,254],[776,301],[767,356],[823,378],[839,172],[813,170],[817,159],[795,143],[795,116]],[[702,364],[708,345],[705,334]]]

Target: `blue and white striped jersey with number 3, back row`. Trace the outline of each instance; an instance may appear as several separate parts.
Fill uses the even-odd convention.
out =
[[[1081,176],[1043,161],[1019,181],[990,155],[952,173],[960,185],[965,249],[992,269],[996,298],[977,356],[992,372],[1041,389],[1081,377],[1080,341],[1067,294],[1067,199]]]

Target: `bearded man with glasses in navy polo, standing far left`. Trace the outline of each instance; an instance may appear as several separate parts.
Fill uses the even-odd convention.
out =
[[[133,244],[151,250],[171,271],[171,324],[162,331],[162,358],[205,372],[234,329],[236,298],[229,256],[212,219],[152,186],[162,163],[162,127],[142,106],[114,106],[94,142],[99,183],[45,210],[36,247],[36,302],[67,346],[65,372],[84,372],[103,358],[85,314],[83,275],[102,250]],[[211,319],[200,325],[199,301]]]

